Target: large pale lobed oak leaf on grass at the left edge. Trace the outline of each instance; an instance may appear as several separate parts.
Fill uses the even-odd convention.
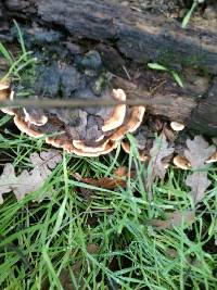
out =
[[[17,200],[22,200],[27,193],[36,191],[42,187],[48,176],[52,173],[54,164],[61,162],[62,156],[56,150],[48,152],[33,153],[30,161],[34,168],[23,171],[15,175],[14,166],[11,163],[4,165],[0,176],[0,203],[3,203],[2,194],[13,191]]]

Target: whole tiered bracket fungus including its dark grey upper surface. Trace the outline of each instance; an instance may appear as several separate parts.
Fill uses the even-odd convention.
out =
[[[95,58],[93,52],[88,54],[88,59],[91,59],[92,55]],[[98,66],[100,66],[99,58],[97,60]],[[52,66],[52,70],[55,70],[54,67],[58,67],[58,64]],[[98,102],[99,98],[126,100],[125,91],[120,88],[112,88],[110,83],[104,84],[101,81],[102,74],[99,76],[99,73],[92,72],[90,63],[88,63],[88,70],[86,67],[82,72],[74,66],[61,64],[61,67],[58,67],[59,78],[56,78],[62,81],[59,88],[63,88],[63,85],[67,83],[65,76],[68,76],[69,68],[75,71],[74,75],[76,75],[77,83],[74,84],[74,88],[71,91],[68,90],[69,97],[64,96],[64,98],[73,98],[74,96],[82,99],[92,98],[95,99],[95,102]],[[69,77],[72,77],[72,74],[69,74]],[[46,80],[42,79],[42,83],[44,87]],[[99,84],[102,84],[102,87],[98,87],[95,91],[95,86],[99,86]],[[43,93],[41,94],[43,96]],[[41,94],[40,91],[37,93],[37,96]],[[44,99],[44,97],[37,96],[29,98],[38,99],[39,102]],[[1,100],[13,99],[13,97],[16,98],[16,93],[10,89],[9,84],[1,84],[0,97]],[[49,98],[53,97],[55,96],[49,96]],[[48,97],[46,96],[46,98]],[[14,123],[17,128],[30,137],[44,137],[47,143],[55,148],[63,148],[67,152],[80,156],[99,156],[111,152],[117,147],[118,140],[140,126],[145,108],[117,104],[110,108],[77,109],[5,108],[1,109],[1,111],[14,115]]]

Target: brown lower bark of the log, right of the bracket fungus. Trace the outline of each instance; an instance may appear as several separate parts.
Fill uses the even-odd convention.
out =
[[[124,88],[129,98],[156,102],[148,105],[148,113],[183,123],[188,128],[207,136],[217,136],[217,78],[213,79],[204,97],[200,98],[196,91],[199,88],[182,89],[173,84],[168,76],[161,78],[159,84],[163,85],[156,85],[153,92],[139,85],[140,81],[135,85],[118,78],[116,85]]]

